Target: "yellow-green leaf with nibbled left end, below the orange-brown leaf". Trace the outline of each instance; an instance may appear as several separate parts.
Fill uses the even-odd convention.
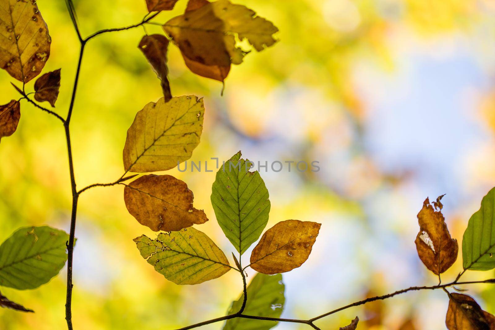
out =
[[[231,269],[222,250],[193,227],[160,233],[156,239],[143,235],[134,241],[148,264],[176,284],[202,283]]]

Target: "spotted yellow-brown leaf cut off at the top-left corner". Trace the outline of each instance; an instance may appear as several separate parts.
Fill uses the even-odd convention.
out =
[[[3,0],[0,10],[0,67],[27,83],[50,55],[51,37],[34,0]]]

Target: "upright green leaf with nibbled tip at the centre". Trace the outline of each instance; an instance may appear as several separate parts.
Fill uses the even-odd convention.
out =
[[[218,170],[211,191],[218,224],[241,254],[261,235],[270,213],[268,189],[249,164],[236,153]]]

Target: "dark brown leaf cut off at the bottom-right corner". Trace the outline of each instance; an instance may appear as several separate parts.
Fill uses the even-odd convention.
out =
[[[495,330],[495,317],[470,296],[450,293],[446,316],[448,330]]]

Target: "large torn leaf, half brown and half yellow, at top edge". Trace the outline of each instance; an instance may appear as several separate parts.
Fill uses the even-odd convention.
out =
[[[196,9],[163,25],[190,60],[220,67],[240,64],[246,52],[236,47],[236,36],[258,51],[275,44],[273,34],[278,29],[243,5],[219,0],[191,7]]]

